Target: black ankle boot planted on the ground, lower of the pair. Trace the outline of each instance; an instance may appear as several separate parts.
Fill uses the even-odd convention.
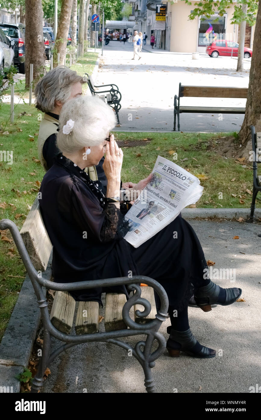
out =
[[[187,331],[175,331],[167,327],[167,333],[170,334],[166,348],[171,357],[179,357],[181,352],[186,352],[193,357],[208,359],[214,357],[216,350],[202,346],[200,351],[193,351],[193,347],[198,343],[190,328]],[[199,343],[198,343],[199,344]]]

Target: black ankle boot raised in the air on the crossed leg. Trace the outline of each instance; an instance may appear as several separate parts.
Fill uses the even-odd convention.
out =
[[[211,305],[231,305],[238,300],[242,294],[242,289],[238,289],[237,287],[224,290],[226,292],[225,302],[220,303],[218,302],[220,286],[213,283],[213,281],[210,281],[207,286],[199,287],[199,289],[197,289],[194,296],[195,302],[204,312],[209,312],[211,311]]]

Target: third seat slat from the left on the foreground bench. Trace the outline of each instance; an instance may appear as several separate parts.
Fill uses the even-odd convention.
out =
[[[106,293],[105,331],[118,331],[127,328],[122,318],[122,308],[125,302],[125,294]]]

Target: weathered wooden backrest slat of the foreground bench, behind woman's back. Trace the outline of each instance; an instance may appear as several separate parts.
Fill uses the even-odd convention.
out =
[[[20,234],[36,270],[45,271],[52,251],[52,244],[44,227],[36,198]]]

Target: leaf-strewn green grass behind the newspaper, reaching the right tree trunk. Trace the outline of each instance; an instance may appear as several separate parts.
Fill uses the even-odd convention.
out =
[[[222,141],[220,138],[224,134],[116,132],[115,136],[121,141],[151,139],[150,144],[145,146],[123,149],[123,181],[138,182],[149,175],[158,155],[173,160],[173,152],[176,152],[177,160],[173,160],[174,163],[199,178],[203,176],[201,184],[204,192],[197,207],[250,208],[252,196],[245,190],[252,190],[252,167],[248,163],[243,168],[242,163],[236,163],[235,159],[225,159],[217,153],[220,143],[216,142]],[[188,160],[182,161],[185,158]],[[231,181],[233,178],[235,181]],[[260,207],[259,197],[256,205]]]

